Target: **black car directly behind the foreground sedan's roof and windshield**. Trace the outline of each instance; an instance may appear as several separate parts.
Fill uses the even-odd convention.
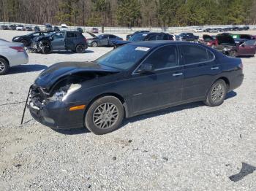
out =
[[[129,38],[128,41],[118,40],[113,41],[114,49],[117,47],[121,47],[124,44],[129,44],[131,42],[140,42],[140,41],[157,41],[157,40],[173,40],[173,35],[171,34],[165,34],[165,33],[138,33],[135,35],[132,35],[131,38]]]

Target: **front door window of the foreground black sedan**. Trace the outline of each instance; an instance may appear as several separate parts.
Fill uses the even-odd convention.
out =
[[[160,47],[152,52],[143,63],[150,63],[154,70],[178,66],[178,50],[176,45]]]

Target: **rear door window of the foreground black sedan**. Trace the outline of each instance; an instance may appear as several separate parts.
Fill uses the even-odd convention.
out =
[[[214,59],[214,54],[204,47],[192,44],[182,44],[181,48],[184,64],[201,63],[212,61]]]

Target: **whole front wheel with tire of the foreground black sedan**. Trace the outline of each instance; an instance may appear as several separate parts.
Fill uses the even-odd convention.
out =
[[[124,119],[124,107],[113,96],[94,101],[86,112],[85,125],[92,133],[102,135],[116,130]]]

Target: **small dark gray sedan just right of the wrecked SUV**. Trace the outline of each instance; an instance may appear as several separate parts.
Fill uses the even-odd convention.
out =
[[[123,40],[122,38],[113,35],[113,34],[100,34],[98,36],[87,32],[93,38],[87,39],[88,46],[90,47],[99,47],[99,46],[113,46],[113,41]]]

